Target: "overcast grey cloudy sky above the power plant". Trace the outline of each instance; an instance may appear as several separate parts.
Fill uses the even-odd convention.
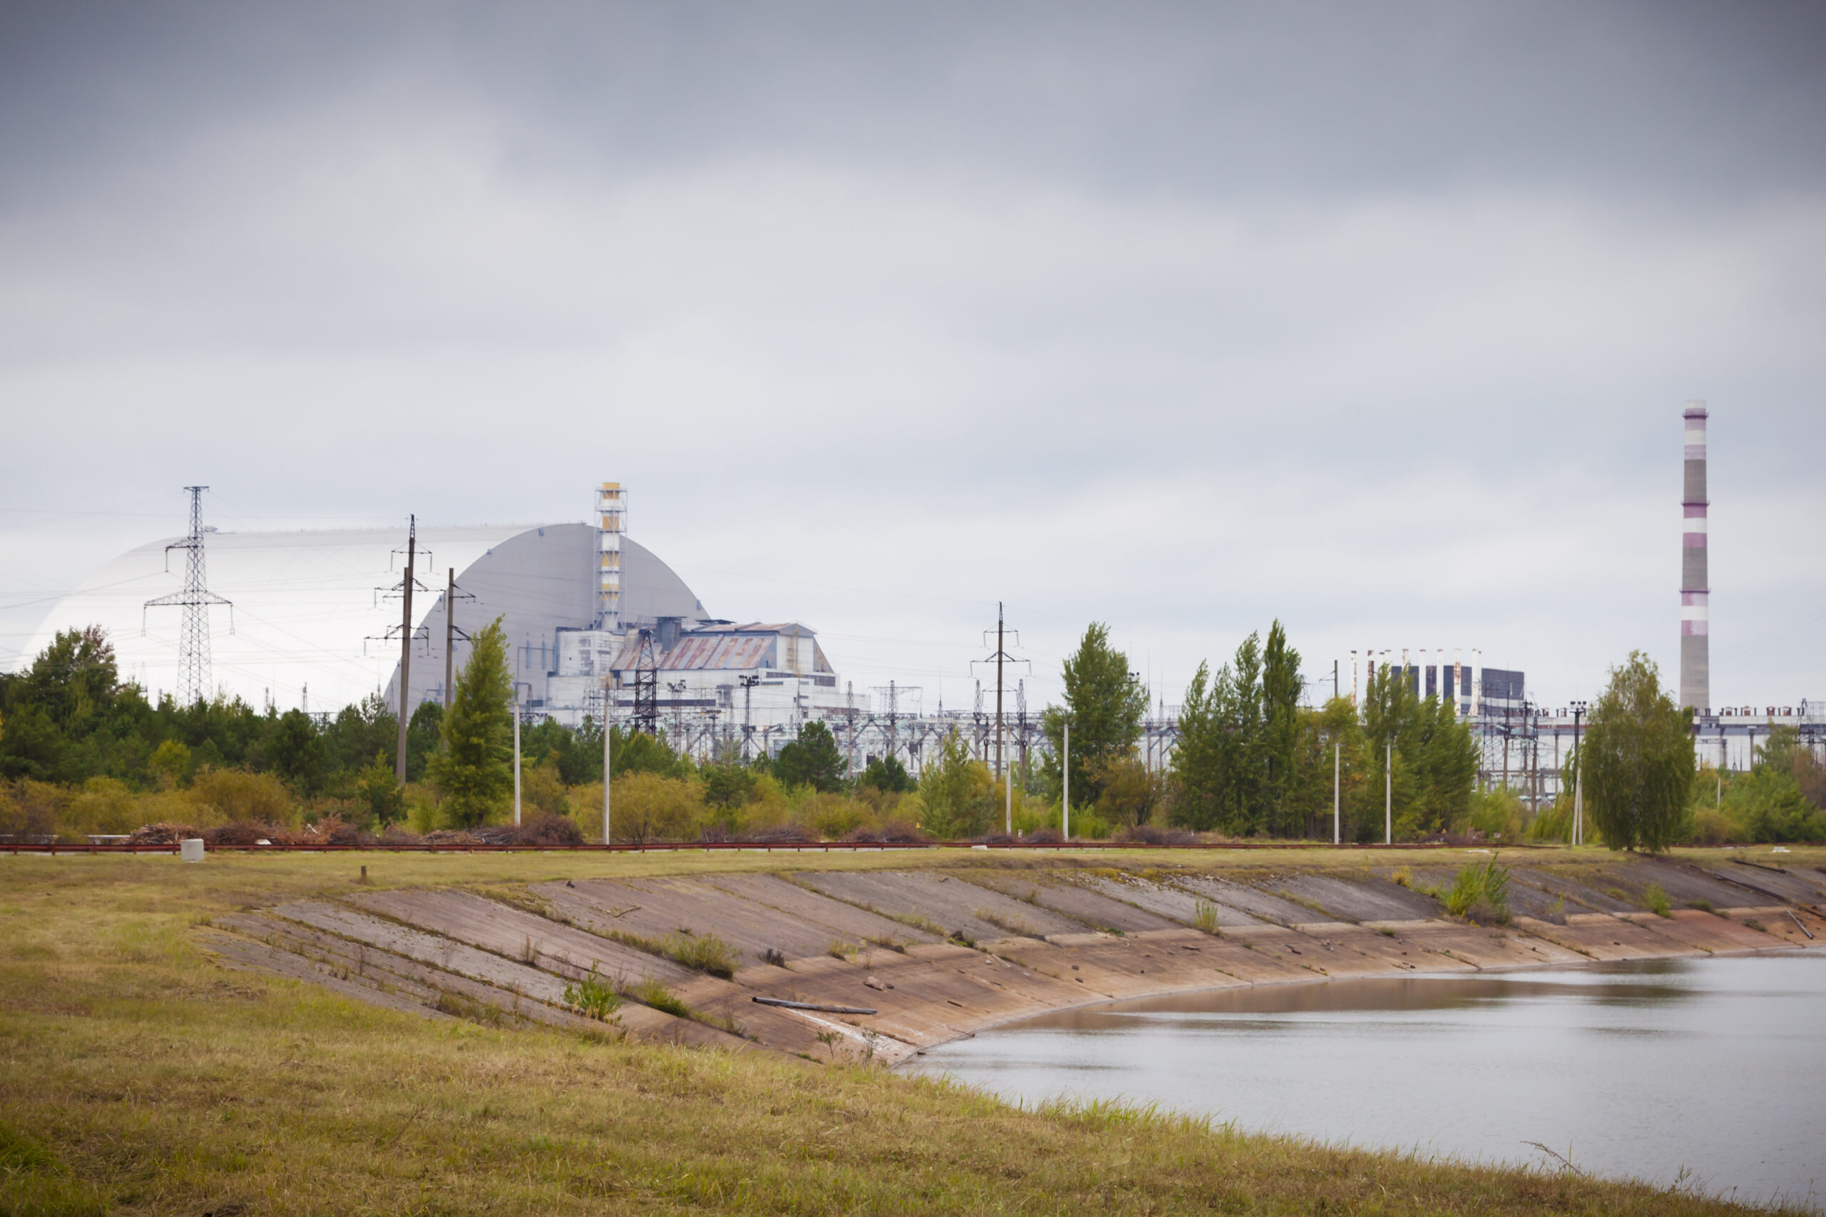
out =
[[[183,528],[582,519],[858,687],[1282,618],[1826,700],[1817,4],[9,5],[0,663]],[[1348,676],[1346,676],[1348,680]]]

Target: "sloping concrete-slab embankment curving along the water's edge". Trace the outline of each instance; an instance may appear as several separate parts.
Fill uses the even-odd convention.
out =
[[[953,859],[354,886],[217,917],[205,945],[228,967],[429,1016],[889,1067],[1028,1016],[1174,992],[1826,947],[1826,873],[1811,868],[1758,870],[1760,888],[1788,884],[1795,899],[1747,905],[1731,899],[1755,899],[1747,884],[1698,864],[1581,866],[1517,862],[1508,925],[1444,917],[1432,892],[1450,873],[1424,861],[1421,873],[1382,875]],[[1731,903],[1629,908],[1632,890],[1663,886],[1684,901]],[[612,1029],[566,996],[595,978],[635,998]]]

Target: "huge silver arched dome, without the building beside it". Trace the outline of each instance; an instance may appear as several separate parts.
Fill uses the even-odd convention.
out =
[[[183,554],[166,563],[172,541],[128,550],[64,596],[38,625],[27,658],[58,630],[100,625],[124,680],[152,698],[173,691],[184,610],[144,607],[183,588]],[[707,619],[665,561],[632,537],[621,545],[626,625]],[[404,530],[206,532],[205,557],[210,590],[232,601],[210,610],[212,689],[281,709],[338,709],[373,693],[398,705],[394,588],[405,568]],[[420,528],[409,707],[444,696],[451,570],[456,625],[473,632],[502,618],[520,696],[542,702],[557,630],[595,623],[597,530],[582,523]],[[460,669],[466,658],[458,640],[453,661]]]

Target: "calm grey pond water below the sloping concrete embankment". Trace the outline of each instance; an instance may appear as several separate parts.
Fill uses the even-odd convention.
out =
[[[1826,954],[1260,985],[1043,1014],[922,1067],[1322,1140],[1813,1204]]]

